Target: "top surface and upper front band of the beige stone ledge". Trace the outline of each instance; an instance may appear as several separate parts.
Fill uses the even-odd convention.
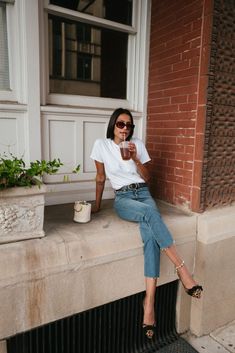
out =
[[[159,208],[178,245],[195,242],[195,215],[164,204]],[[45,272],[84,269],[143,254],[138,225],[121,220],[111,200],[104,200],[102,210],[86,224],[73,221],[73,204],[47,206],[44,230],[45,238],[0,246],[0,283],[16,284],[23,277],[35,279]]]

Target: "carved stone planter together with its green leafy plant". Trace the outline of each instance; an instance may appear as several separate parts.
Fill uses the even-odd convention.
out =
[[[45,236],[42,177],[56,173],[62,165],[60,159],[54,159],[26,166],[12,154],[0,156],[0,243]],[[79,166],[74,172],[78,171]]]

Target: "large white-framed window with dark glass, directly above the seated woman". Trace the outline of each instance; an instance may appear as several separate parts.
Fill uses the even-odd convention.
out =
[[[146,0],[45,0],[42,104],[129,109],[144,104]],[[42,5],[43,6],[43,5]],[[140,108],[138,108],[140,109]]]

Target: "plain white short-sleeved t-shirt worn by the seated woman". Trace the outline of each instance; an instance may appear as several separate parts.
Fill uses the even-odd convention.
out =
[[[150,157],[144,143],[138,138],[132,138],[131,142],[136,145],[137,157],[141,163],[149,162]],[[119,146],[111,139],[96,140],[91,158],[104,163],[105,173],[115,190],[132,183],[144,182],[144,179],[137,172],[135,162],[132,159],[124,161]]]

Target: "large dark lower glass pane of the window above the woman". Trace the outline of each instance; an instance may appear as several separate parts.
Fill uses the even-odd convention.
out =
[[[126,98],[128,34],[49,16],[49,38],[51,93]]]

